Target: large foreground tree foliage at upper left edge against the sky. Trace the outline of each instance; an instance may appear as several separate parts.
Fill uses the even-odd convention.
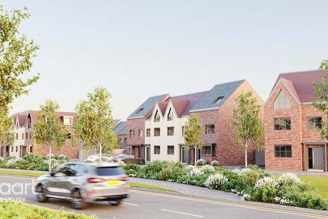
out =
[[[0,5],[0,142],[5,146],[14,142],[10,103],[18,96],[27,94],[27,87],[39,79],[38,75],[25,76],[31,70],[31,59],[38,50],[33,40],[27,40],[25,35],[20,34],[20,23],[27,18],[27,8],[25,12],[8,12]]]

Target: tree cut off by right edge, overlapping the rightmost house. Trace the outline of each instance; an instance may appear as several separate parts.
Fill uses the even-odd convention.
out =
[[[319,83],[314,83],[314,96],[318,101],[314,101],[312,105],[318,110],[322,110],[328,116],[328,60],[323,60],[319,70],[326,73]],[[322,129],[317,129],[321,138],[328,140],[328,118],[322,122]]]

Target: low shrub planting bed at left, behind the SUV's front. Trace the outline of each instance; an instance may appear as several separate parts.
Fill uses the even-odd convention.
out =
[[[55,168],[59,164],[68,162],[68,158],[64,155],[51,156],[51,167]],[[20,169],[20,170],[48,170],[49,157],[39,157],[37,155],[29,154],[23,158],[6,157],[3,159],[0,157],[0,168],[8,169]]]

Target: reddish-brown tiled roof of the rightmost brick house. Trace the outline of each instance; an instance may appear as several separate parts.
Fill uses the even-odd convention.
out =
[[[295,73],[282,73],[279,74],[277,81],[275,81],[276,87],[279,81],[282,81],[289,92],[295,96],[296,101],[301,103],[316,101],[314,97],[313,83],[318,83],[325,76],[325,72],[320,70],[308,70]],[[273,92],[271,91],[271,93]]]

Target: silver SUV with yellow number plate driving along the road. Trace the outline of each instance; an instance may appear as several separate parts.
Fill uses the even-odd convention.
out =
[[[127,175],[120,165],[107,162],[68,162],[36,179],[36,197],[40,203],[49,198],[71,201],[74,209],[88,203],[108,201],[120,205],[128,197]]]

